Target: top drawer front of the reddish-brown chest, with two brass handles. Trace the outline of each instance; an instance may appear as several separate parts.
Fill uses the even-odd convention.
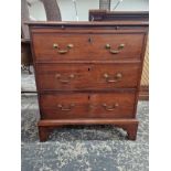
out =
[[[139,58],[143,34],[32,35],[36,61],[113,61]]]

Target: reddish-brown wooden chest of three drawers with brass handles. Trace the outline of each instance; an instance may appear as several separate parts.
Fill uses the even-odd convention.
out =
[[[65,125],[114,125],[136,139],[148,22],[30,22],[40,140]]]

